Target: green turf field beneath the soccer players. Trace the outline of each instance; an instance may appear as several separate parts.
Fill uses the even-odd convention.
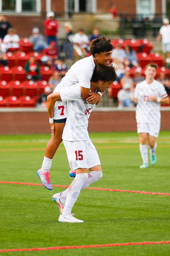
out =
[[[160,132],[158,163],[140,170],[142,164],[136,132],[92,133],[103,169],[98,188],[170,193],[170,131]],[[0,137],[0,169],[4,181],[41,183],[41,167],[50,135]],[[63,144],[51,169],[51,183],[70,185],[69,165]],[[0,184],[0,250],[91,244],[170,240],[170,196],[83,190],[73,208],[84,223],[58,223],[54,193],[41,186]],[[67,249],[39,252],[5,252],[1,255],[125,255],[169,256],[170,244],[132,245],[110,248]]]

